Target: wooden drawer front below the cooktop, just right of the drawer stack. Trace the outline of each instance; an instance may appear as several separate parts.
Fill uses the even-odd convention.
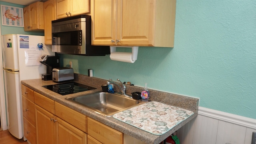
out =
[[[49,111],[50,113],[54,114],[55,112],[54,100],[49,99],[48,97],[41,95],[36,91],[34,92],[34,96],[35,96],[35,103],[37,105],[46,109],[46,111]]]

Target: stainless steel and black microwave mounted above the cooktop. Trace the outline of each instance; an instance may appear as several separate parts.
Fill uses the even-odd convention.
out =
[[[91,45],[91,16],[89,15],[52,21],[52,51],[88,56],[110,54],[108,46]]]

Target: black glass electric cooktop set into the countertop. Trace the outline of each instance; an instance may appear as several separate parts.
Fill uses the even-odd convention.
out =
[[[79,84],[77,82],[66,82],[66,83],[53,84],[53,85],[42,86],[42,87],[47,88],[48,90],[54,91],[56,93],[59,93],[61,95],[68,95],[70,93],[78,93],[81,91],[96,89],[90,86]]]

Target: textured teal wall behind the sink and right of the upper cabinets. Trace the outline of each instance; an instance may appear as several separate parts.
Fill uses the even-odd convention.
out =
[[[61,54],[74,72],[200,98],[200,107],[256,119],[256,1],[177,0],[174,48],[139,47],[138,60]]]

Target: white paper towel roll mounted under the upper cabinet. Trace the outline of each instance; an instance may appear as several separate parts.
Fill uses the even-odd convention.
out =
[[[132,60],[132,53],[126,53],[126,52],[114,52],[110,54],[111,60],[117,60],[121,62],[130,62],[134,63],[135,60]]]

